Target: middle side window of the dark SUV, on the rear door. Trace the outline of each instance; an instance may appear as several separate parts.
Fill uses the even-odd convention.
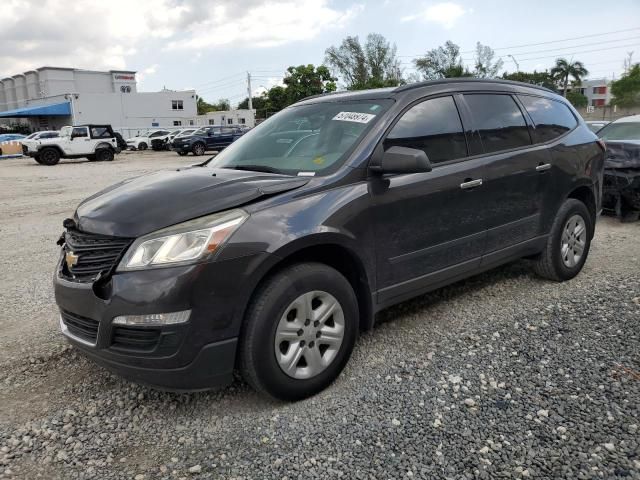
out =
[[[484,151],[497,152],[530,145],[529,129],[510,95],[465,95]]]

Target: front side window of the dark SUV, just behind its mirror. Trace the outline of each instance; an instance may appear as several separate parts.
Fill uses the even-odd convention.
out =
[[[393,146],[423,150],[432,163],[467,155],[462,122],[453,97],[432,98],[405,112],[384,141]]]

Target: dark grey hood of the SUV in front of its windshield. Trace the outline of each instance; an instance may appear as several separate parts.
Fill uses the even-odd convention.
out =
[[[299,188],[308,178],[193,167],[125,180],[84,200],[80,230],[139,237],[164,227]]]

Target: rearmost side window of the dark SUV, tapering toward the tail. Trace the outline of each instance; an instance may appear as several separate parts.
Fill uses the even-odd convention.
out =
[[[577,125],[569,108],[560,102],[528,95],[519,98],[536,126],[533,134],[536,143],[553,140]]]

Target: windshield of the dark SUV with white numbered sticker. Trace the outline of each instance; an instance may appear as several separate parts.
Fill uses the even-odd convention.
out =
[[[208,165],[324,175],[344,161],[391,100],[327,102],[287,108],[252,129]]]

